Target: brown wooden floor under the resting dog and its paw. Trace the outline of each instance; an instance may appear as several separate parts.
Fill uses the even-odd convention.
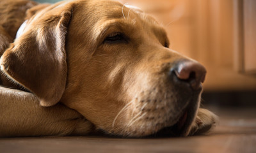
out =
[[[0,152],[256,152],[256,108],[212,110],[220,116],[220,123],[211,133],[202,136],[1,138]]]

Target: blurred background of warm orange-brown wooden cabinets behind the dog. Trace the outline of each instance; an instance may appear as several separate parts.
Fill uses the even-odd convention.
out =
[[[256,108],[255,0],[120,1],[154,16],[170,48],[207,68],[203,105]]]

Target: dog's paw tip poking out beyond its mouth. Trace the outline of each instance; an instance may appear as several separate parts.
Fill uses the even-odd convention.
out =
[[[189,131],[189,135],[199,135],[206,133],[215,126],[217,121],[217,115],[204,108],[199,108],[196,119]]]

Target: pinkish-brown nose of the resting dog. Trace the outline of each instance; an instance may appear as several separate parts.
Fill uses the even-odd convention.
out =
[[[172,71],[175,77],[182,82],[188,82],[194,90],[199,89],[201,82],[205,80],[206,69],[196,61],[177,62]]]

